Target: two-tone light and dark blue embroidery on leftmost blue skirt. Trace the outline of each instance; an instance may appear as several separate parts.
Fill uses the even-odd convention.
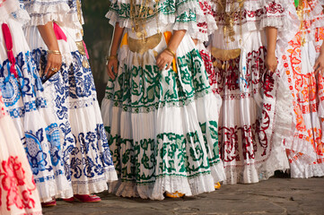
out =
[[[17,122],[21,121],[17,129],[23,129],[22,144],[35,182],[54,180],[56,176],[64,175],[63,163],[60,161],[59,130],[56,124],[46,127],[39,113],[40,109],[46,110],[47,101],[43,97],[44,89],[31,53],[19,53],[15,59],[17,78],[10,73],[11,63],[8,59],[0,64],[0,89],[3,91],[4,104],[8,107],[9,115]],[[32,115],[27,115],[30,113]],[[35,120],[35,123],[25,124],[25,120]]]

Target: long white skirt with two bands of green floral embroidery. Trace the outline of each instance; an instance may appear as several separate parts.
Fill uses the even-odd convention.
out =
[[[188,35],[177,50],[177,72],[155,64],[165,47],[163,36],[143,55],[124,44],[117,78],[107,84],[101,111],[119,179],[109,191],[120,196],[196,195],[224,180],[217,125],[222,101]]]

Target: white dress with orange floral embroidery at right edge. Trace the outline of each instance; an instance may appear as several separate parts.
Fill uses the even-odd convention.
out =
[[[293,95],[296,121],[293,142],[286,142],[293,177],[324,176],[323,119],[317,117],[322,111],[320,103],[323,102],[324,85],[321,74],[316,78],[311,65],[324,39],[323,28],[313,27],[315,22],[324,20],[324,13],[320,12],[318,4],[320,1],[317,0],[302,1],[304,15],[301,29],[289,41],[282,57]]]

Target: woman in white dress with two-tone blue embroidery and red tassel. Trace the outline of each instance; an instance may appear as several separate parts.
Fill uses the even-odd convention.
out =
[[[5,1],[1,13],[0,89],[8,115],[19,133],[39,191],[40,201],[70,187],[61,154],[59,128],[48,116],[47,100],[22,31],[30,20],[19,2]]]

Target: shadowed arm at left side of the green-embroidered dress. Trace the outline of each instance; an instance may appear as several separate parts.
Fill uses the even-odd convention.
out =
[[[118,47],[120,46],[121,37],[123,36],[124,28],[119,27],[119,23],[116,23],[114,36],[110,47],[110,56],[107,59],[107,73],[109,77],[114,80],[118,72]]]

